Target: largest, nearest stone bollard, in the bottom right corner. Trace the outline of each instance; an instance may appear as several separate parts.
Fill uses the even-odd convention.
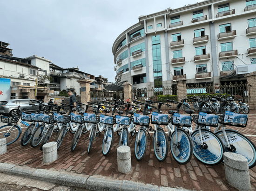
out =
[[[241,154],[224,153],[226,179],[229,184],[239,190],[250,190],[248,160]]]

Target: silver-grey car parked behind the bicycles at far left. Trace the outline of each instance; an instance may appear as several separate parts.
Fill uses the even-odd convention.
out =
[[[29,105],[29,103],[36,104],[35,106]],[[20,105],[20,108],[28,108],[26,113],[33,113],[38,111],[39,106],[38,104],[42,103],[38,100],[34,99],[15,99],[15,100],[4,100],[0,101],[0,115],[17,115],[17,107]],[[47,104],[47,103],[46,103]]]

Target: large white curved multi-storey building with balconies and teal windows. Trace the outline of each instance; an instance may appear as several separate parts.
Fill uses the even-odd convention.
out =
[[[140,16],[112,52],[117,83],[136,88],[175,85],[179,77],[187,84],[243,80],[237,66],[247,64],[238,73],[256,70],[256,1],[205,0]]]

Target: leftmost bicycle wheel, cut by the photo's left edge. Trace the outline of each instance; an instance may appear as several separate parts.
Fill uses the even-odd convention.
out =
[[[2,127],[0,127],[0,139],[6,138],[6,145],[10,145],[20,138],[21,129],[17,125],[13,126],[13,130],[10,132],[10,134],[7,134],[7,131],[12,126],[13,125],[10,124],[10,125],[3,125]]]

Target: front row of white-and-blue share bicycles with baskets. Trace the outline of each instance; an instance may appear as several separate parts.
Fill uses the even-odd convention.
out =
[[[0,127],[0,138],[6,137],[7,144],[18,140],[21,128],[17,122],[21,117],[24,124],[27,124],[25,121],[34,121],[27,124],[28,127],[20,140],[22,146],[27,145],[30,141],[30,145],[33,147],[41,143],[40,149],[42,149],[53,132],[58,132],[55,141],[59,148],[65,134],[69,131],[74,134],[71,151],[74,151],[82,134],[89,134],[88,153],[90,153],[95,137],[104,132],[102,153],[106,156],[111,151],[116,132],[119,136],[119,146],[129,146],[129,136],[136,135],[135,157],[137,160],[144,158],[149,136],[150,139],[153,139],[155,156],[159,161],[166,159],[168,146],[170,146],[174,159],[180,164],[188,163],[194,154],[195,158],[203,164],[216,165],[222,162],[224,152],[233,152],[245,156],[248,159],[249,168],[252,168],[256,165],[256,146],[237,130],[226,128],[226,125],[229,128],[231,126],[246,127],[248,115],[225,111],[225,107],[232,102],[231,98],[223,99],[217,96],[213,96],[213,98],[221,102],[219,103],[220,114],[212,115],[209,102],[196,97],[190,97],[190,99],[198,102],[198,115],[194,115],[195,111],[187,108],[184,108],[187,115],[180,114],[180,108],[187,107],[185,99],[182,99],[182,102],[174,100],[139,102],[133,100],[136,105],[144,106],[142,115],[129,109],[133,106],[132,103],[117,100],[88,102],[88,104],[78,103],[79,114],[71,113],[71,110],[66,114],[65,110],[69,107],[67,104],[61,106],[50,104],[45,114],[46,108],[44,104],[40,104],[40,111],[37,114],[26,114],[26,109],[23,111],[19,109],[18,116],[2,116],[2,122],[7,125]],[[176,110],[168,110],[168,114],[162,114],[161,106],[166,105],[171,108],[170,103],[177,104]],[[101,111],[102,104],[104,109]],[[109,108],[110,105],[112,109]],[[53,108],[55,111],[52,111]],[[89,108],[92,108],[93,112],[88,113]],[[117,110],[117,108],[123,110]],[[151,113],[149,108],[155,108],[155,110]],[[78,108],[73,108],[73,111],[76,110]],[[101,112],[105,114],[100,114]],[[196,124],[194,129],[192,121]],[[166,129],[168,132],[165,132]],[[153,138],[149,131],[154,132]]]

